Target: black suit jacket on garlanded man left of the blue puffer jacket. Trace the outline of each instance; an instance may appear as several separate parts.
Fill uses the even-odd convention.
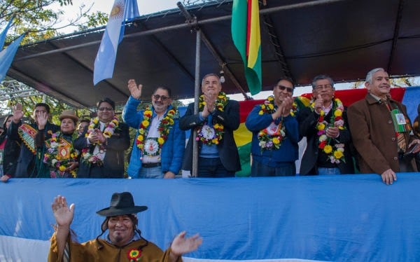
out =
[[[87,127],[80,137],[74,141],[74,148],[82,151],[88,147],[92,153],[94,145],[87,145],[85,134]],[[77,177],[78,178],[123,178],[125,151],[130,147],[130,133],[128,125],[119,123],[114,134],[109,137],[106,145],[104,165],[89,165],[80,158]]]

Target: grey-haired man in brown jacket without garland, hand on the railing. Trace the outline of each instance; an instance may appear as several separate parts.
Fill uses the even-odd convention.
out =
[[[367,73],[368,94],[348,111],[353,144],[358,151],[360,172],[381,174],[393,184],[395,172],[415,172],[412,157],[405,155],[420,139],[412,135],[412,125],[403,104],[389,95],[388,73],[382,68]],[[420,151],[420,146],[412,153]]]

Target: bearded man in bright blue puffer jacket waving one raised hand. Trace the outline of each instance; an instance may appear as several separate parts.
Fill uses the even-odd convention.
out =
[[[137,128],[128,175],[132,178],[174,178],[181,170],[186,134],[179,129],[179,111],[172,106],[169,88],[158,87],[152,104],[137,111],[143,85],[128,81],[130,97],[124,106],[123,119]]]

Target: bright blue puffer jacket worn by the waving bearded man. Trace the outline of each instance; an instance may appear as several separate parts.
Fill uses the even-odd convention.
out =
[[[130,158],[130,165],[128,166],[128,175],[132,178],[138,178],[141,170],[142,152],[136,146],[136,139],[139,135],[139,125],[143,121],[143,110],[137,111],[137,106],[141,103],[141,100],[135,99],[130,96],[127,104],[124,106],[123,120],[127,125],[133,128],[137,128],[136,137],[134,137],[133,149]],[[168,107],[172,109],[172,105]],[[156,113],[152,107],[152,118],[156,116]],[[165,113],[166,116],[166,113]],[[179,129],[179,118],[174,119],[174,125],[169,131],[168,139],[165,144],[162,145],[161,161],[162,161],[162,173],[168,171],[178,174],[181,169],[183,153],[186,146],[186,133]]]

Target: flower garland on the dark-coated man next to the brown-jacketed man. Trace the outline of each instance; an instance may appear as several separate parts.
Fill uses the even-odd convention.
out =
[[[311,104],[311,109],[314,110],[315,102]],[[346,160],[344,159],[344,144],[337,143],[334,145],[335,149],[330,145],[331,144],[331,138],[327,137],[326,132],[328,125],[334,125],[338,127],[339,130],[345,130],[346,127],[344,127],[344,120],[343,120],[343,111],[344,106],[343,103],[338,99],[335,98],[332,103],[332,116],[330,119],[330,122],[324,120],[325,112],[321,110],[319,113],[318,123],[316,123],[316,130],[318,130],[318,149],[321,149],[327,156],[330,158],[331,163],[338,164],[341,161],[346,163]],[[335,142],[337,142],[336,139],[334,139]]]

